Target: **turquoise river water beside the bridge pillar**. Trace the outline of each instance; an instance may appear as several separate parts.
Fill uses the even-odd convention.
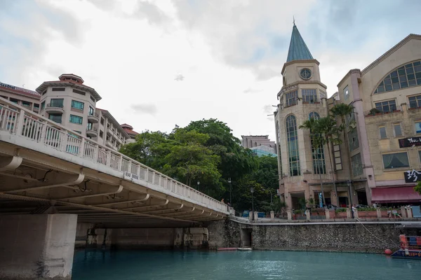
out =
[[[291,251],[76,251],[72,280],[421,279],[421,260]]]

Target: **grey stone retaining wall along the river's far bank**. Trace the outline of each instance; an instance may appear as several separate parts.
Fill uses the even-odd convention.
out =
[[[393,223],[248,225],[229,220],[210,223],[208,231],[209,248],[243,246],[246,232],[251,231],[255,249],[358,252],[393,250],[399,246],[399,235],[421,234],[420,230],[396,228]]]

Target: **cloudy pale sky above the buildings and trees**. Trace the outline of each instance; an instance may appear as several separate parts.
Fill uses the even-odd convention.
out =
[[[418,0],[0,0],[0,81],[74,73],[119,123],[171,132],[217,118],[275,139],[293,18],[328,96],[408,34]]]

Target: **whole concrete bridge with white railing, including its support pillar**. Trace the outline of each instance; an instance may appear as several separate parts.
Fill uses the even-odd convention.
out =
[[[228,214],[226,204],[0,97],[0,255],[27,258],[19,275],[6,269],[10,259],[0,260],[1,279],[30,278],[42,267],[41,279],[68,277],[76,221],[194,228]],[[17,245],[27,231],[37,232],[38,254]],[[59,258],[63,250],[70,253]]]

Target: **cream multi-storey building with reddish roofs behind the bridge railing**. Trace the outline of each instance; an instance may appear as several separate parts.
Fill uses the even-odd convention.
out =
[[[100,94],[71,73],[42,83],[36,91],[0,83],[0,97],[60,123],[76,132],[75,137],[81,134],[114,150],[134,141],[137,134],[130,125],[119,125],[109,111],[97,108]]]

